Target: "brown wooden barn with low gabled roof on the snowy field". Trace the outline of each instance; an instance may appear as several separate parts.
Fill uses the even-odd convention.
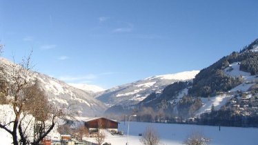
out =
[[[108,129],[109,131],[115,131],[117,132],[118,129],[118,124],[119,122],[116,122],[112,119],[107,119],[105,117],[95,117],[95,118],[90,118],[90,119],[85,119],[83,120],[86,128],[91,130],[95,130],[98,128],[105,128]]]

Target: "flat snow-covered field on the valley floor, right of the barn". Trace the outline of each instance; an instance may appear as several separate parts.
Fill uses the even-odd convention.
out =
[[[258,128],[236,128],[221,126],[219,131],[218,126],[197,126],[186,124],[157,124],[130,122],[130,133],[128,142],[130,145],[140,145],[139,133],[143,133],[147,126],[152,126],[159,132],[161,143],[163,145],[182,144],[183,140],[192,133],[192,131],[201,131],[206,137],[212,139],[211,144],[218,145],[255,145],[258,142]],[[123,131],[124,135],[108,134],[105,142],[110,142],[112,145],[124,145],[127,140],[128,124],[120,122],[119,131]],[[87,139],[95,142],[95,139]]]

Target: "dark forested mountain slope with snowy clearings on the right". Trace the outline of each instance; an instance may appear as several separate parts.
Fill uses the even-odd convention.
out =
[[[192,82],[179,82],[152,94],[134,106],[150,107],[183,117],[227,110],[228,116],[258,112],[258,39],[240,52],[219,59],[196,75]],[[246,63],[248,62],[248,63]],[[244,100],[244,101],[243,101]],[[240,114],[239,114],[240,113]],[[230,119],[229,119],[230,120]]]

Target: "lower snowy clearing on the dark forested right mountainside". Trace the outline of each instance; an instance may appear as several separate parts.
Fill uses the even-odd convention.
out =
[[[215,106],[215,110],[219,110],[219,108],[221,108],[221,106],[224,106],[226,102],[232,97],[232,95],[217,95],[210,98],[201,98],[201,101],[204,105],[201,106],[199,110],[197,110],[196,116],[198,117],[202,113],[209,113],[211,111],[212,104]]]

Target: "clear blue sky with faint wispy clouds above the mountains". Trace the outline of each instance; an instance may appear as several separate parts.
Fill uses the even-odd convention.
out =
[[[258,1],[0,0],[3,57],[111,88],[201,70],[258,38]]]

